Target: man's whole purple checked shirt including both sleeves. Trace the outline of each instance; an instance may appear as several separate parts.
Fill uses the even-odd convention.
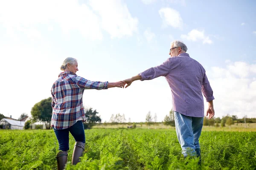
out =
[[[170,57],[163,64],[139,74],[143,80],[166,77],[172,91],[172,109],[186,116],[204,117],[204,99],[212,101],[213,91],[203,66],[187,53]]]

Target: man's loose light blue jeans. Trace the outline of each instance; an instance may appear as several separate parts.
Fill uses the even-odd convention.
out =
[[[177,138],[180,142],[183,156],[196,155],[195,149],[200,148],[199,137],[204,117],[185,116],[176,111],[174,111],[174,117]]]

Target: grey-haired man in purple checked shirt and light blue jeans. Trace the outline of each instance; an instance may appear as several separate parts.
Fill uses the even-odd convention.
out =
[[[201,151],[199,137],[204,120],[204,99],[208,102],[207,116],[214,116],[213,91],[205,74],[204,67],[186,53],[186,45],[178,40],[171,43],[168,58],[163,64],[149,68],[137,76],[124,80],[125,88],[135,80],[151,80],[164,76],[172,91],[172,109],[178,141],[184,157],[197,155]]]

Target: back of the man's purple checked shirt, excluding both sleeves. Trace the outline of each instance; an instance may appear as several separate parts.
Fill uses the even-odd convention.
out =
[[[172,89],[173,110],[186,116],[204,117],[201,91],[204,68],[186,53],[169,58],[169,63],[170,72],[166,79]]]

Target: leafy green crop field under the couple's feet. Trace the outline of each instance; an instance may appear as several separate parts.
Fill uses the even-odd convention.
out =
[[[198,159],[184,159],[174,129],[85,130],[81,162],[67,170],[198,170]],[[203,131],[201,169],[255,170],[256,132]],[[0,130],[1,170],[55,170],[58,142],[53,130]],[[186,164],[188,162],[188,164]]]

